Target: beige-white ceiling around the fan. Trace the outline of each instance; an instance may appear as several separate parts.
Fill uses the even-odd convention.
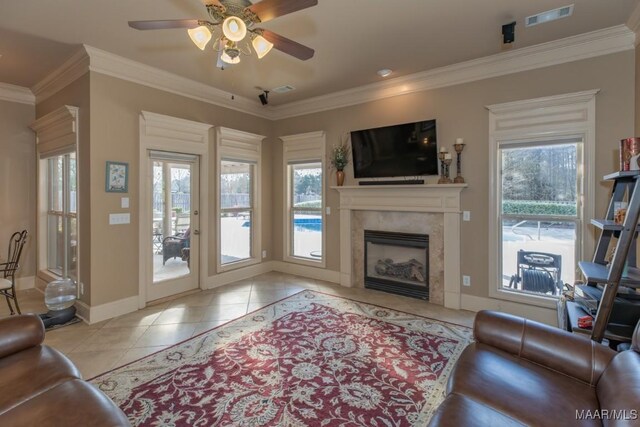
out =
[[[526,16],[575,3],[573,16],[525,28]],[[215,67],[185,30],[137,31],[129,20],[207,19],[200,0],[0,0],[0,82],[32,87],[80,44],[254,99],[256,87],[282,105],[501,52],[502,24],[517,21],[518,49],[624,24],[640,0],[319,0],[261,27],[315,49],[299,61],[273,50]]]

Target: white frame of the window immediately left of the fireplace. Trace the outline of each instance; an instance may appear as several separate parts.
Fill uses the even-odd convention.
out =
[[[325,133],[324,131],[308,132],[303,134],[281,136],[282,140],[282,164],[283,164],[283,258],[286,262],[312,267],[326,267],[327,259],[327,220],[326,220],[326,189],[327,173],[325,159]],[[293,255],[293,221],[292,221],[292,182],[291,164],[320,163],[322,169],[322,257],[318,260],[296,257]]]

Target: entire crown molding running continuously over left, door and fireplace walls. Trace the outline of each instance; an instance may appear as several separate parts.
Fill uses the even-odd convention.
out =
[[[242,96],[234,95],[232,100],[230,92],[83,45],[58,69],[37,83],[33,93],[36,101],[40,102],[87,71],[93,71],[253,116],[281,120],[631,50],[635,48],[636,37],[630,26],[640,27],[640,6],[634,10],[627,25],[267,107]]]

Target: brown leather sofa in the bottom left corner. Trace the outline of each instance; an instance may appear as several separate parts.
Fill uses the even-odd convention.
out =
[[[0,319],[0,426],[129,426],[107,396],[42,345],[38,316]]]

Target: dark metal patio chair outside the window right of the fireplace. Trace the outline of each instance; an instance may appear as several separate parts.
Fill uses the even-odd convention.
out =
[[[509,287],[528,292],[559,295],[562,291],[562,255],[546,252],[518,251],[517,273]]]

